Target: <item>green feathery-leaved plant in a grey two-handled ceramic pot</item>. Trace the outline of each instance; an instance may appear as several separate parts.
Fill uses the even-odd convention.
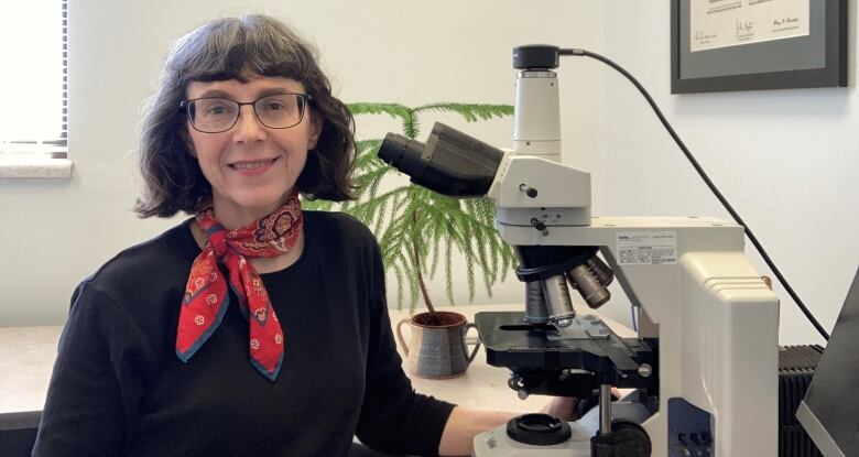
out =
[[[349,109],[355,116],[389,115],[400,121],[401,133],[411,139],[420,134],[420,116],[428,112],[455,113],[469,122],[513,113],[513,107],[509,105],[454,102],[416,108],[400,104],[356,102],[350,104]],[[515,255],[496,232],[494,204],[490,199],[450,198],[411,183],[399,184],[395,179],[389,179],[382,186],[385,177],[400,172],[379,160],[381,143],[381,139],[356,142],[356,200],[342,204],[312,200],[305,207],[331,209],[337,205],[337,209],[365,222],[379,240],[385,274],[393,272],[396,278],[398,307],[403,304],[405,289],[410,311],[414,309],[418,296],[423,297],[427,313],[403,319],[396,326],[396,336],[409,358],[411,371],[426,378],[463,374],[479,347],[477,342],[470,353],[466,348],[465,335],[474,324],[468,324],[459,313],[436,312],[427,281],[435,276],[441,264],[447,300],[454,304],[452,259],[456,250],[465,260],[469,302],[474,300],[478,275],[491,296],[491,286],[499,280],[503,281],[515,264]],[[411,345],[405,344],[401,334],[401,327],[406,323],[412,328]],[[435,348],[425,350],[426,345]],[[422,358],[422,353],[444,356]]]

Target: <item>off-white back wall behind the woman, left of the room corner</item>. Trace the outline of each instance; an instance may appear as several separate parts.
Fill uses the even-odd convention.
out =
[[[139,181],[131,152],[140,108],[155,87],[168,44],[220,15],[269,12],[314,41],[335,91],[349,101],[422,105],[454,100],[512,104],[511,50],[526,43],[599,47],[600,2],[511,0],[421,1],[110,1],[69,6],[68,181],[0,179],[0,326],[61,324],[74,286],[120,249],[177,224],[139,220],[130,208]],[[601,112],[598,69],[565,83],[564,97],[595,111],[567,109],[566,138],[596,151]],[[577,85],[577,79],[588,80]],[[424,126],[431,124],[426,119]],[[450,119],[446,119],[450,121]],[[452,122],[463,128],[461,122]],[[362,119],[359,137],[396,130],[387,119]],[[512,120],[468,126],[509,146]],[[425,137],[425,135],[424,135]],[[367,138],[367,137],[365,137]],[[576,163],[594,168],[596,155]],[[465,283],[456,283],[459,303]],[[394,287],[390,287],[393,290]],[[433,294],[444,300],[443,286]],[[521,301],[510,278],[494,300]],[[487,298],[479,295],[478,301]]]

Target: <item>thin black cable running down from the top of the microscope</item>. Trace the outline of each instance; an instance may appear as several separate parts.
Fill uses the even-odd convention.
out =
[[[763,249],[761,243],[758,241],[758,237],[755,237],[754,233],[752,233],[749,226],[742,220],[740,215],[737,214],[736,210],[733,210],[733,207],[728,203],[725,196],[721,195],[721,193],[716,187],[716,185],[713,184],[713,181],[710,181],[709,176],[707,176],[707,173],[704,172],[704,168],[702,168],[702,166],[698,164],[698,161],[695,160],[695,157],[692,155],[692,152],[689,152],[688,148],[686,148],[686,144],[683,143],[683,141],[677,135],[677,133],[674,131],[674,128],[672,128],[667,119],[665,119],[665,116],[662,115],[662,111],[656,106],[656,102],[653,101],[653,98],[650,96],[650,94],[648,94],[648,90],[644,89],[644,86],[642,86],[641,83],[639,83],[634,76],[632,76],[626,69],[623,69],[620,65],[616,64],[608,57],[604,57],[599,54],[591,53],[590,51],[574,50],[574,48],[561,50],[559,55],[575,55],[575,56],[587,56],[590,58],[596,58],[597,61],[605,63],[606,65],[618,70],[621,75],[626,76],[627,79],[629,79],[639,89],[641,95],[644,96],[644,98],[648,100],[648,104],[650,104],[650,107],[653,108],[653,111],[656,113],[656,117],[660,119],[660,122],[662,122],[662,124],[665,127],[665,130],[667,130],[668,133],[671,134],[671,138],[673,138],[674,141],[677,143],[677,146],[679,146],[681,151],[683,151],[683,154],[686,155],[686,159],[689,160],[689,163],[692,163],[692,166],[695,168],[695,171],[698,172],[698,176],[700,176],[702,179],[704,179],[704,183],[707,184],[707,187],[709,187],[709,189],[714,193],[714,195],[716,195],[716,198],[718,198],[719,202],[722,204],[722,206],[725,206],[725,209],[727,209],[728,213],[730,213],[733,220],[740,226],[742,226],[743,231],[749,237],[752,244],[754,244],[754,247],[758,249],[758,252],[760,252],[761,257],[763,258],[763,261],[766,262],[766,264],[770,266],[770,270],[772,270],[772,272],[775,274],[775,278],[779,279],[779,282],[782,283],[784,290],[787,291],[787,294],[791,295],[791,298],[793,298],[794,303],[796,303],[796,305],[800,307],[800,311],[802,311],[805,317],[808,318],[808,320],[812,323],[814,328],[817,329],[820,336],[823,336],[824,339],[828,341],[829,334],[826,333],[823,326],[820,326],[820,323],[818,323],[817,319],[815,319],[812,313],[808,311],[808,308],[805,307],[803,301],[800,300],[800,296],[796,295],[796,292],[793,291],[793,287],[791,287],[791,285],[787,283],[787,280],[784,279],[782,272],[779,271],[779,269],[775,266],[775,263],[773,263],[772,259],[770,259],[770,255],[766,253],[766,251]]]

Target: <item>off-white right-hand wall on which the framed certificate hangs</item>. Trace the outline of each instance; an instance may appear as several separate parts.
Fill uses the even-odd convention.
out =
[[[670,95],[668,1],[604,3],[601,54],[650,90],[800,297],[831,329],[859,264],[856,0],[848,4],[850,87],[696,95]],[[600,213],[728,218],[643,98],[604,68]],[[747,252],[770,274],[748,241]],[[781,342],[823,341],[784,289],[774,290],[782,301]]]

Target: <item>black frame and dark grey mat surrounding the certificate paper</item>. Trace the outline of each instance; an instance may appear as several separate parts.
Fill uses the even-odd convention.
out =
[[[671,0],[672,94],[847,87],[847,0],[811,0],[808,36],[698,51],[695,55],[689,52],[689,1]],[[781,54],[780,65],[795,63],[797,69],[744,72],[743,62],[772,53]],[[823,64],[808,67],[803,58]],[[731,62],[739,68],[720,75],[711,69],[718,62]]]

